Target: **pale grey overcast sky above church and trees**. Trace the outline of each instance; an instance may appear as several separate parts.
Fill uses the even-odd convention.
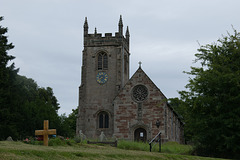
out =
[[[216,42],[232,25],[240,31],[239,0],[0,0],[1,25],[8,27],[9,52],[20,75],[51,87],[59,114],[78,105],[83,23],[89,33],[130,31],[130,77],[142,69],[167,98],[188,83],[199,43]]]

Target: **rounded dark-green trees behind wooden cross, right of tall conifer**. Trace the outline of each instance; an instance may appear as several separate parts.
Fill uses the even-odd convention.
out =
[[[14,106],[18,108],[16,124],[18,137],[34,136],[36,129],[43,128],[43,120],[49,120],[50,126],[61,128],[58,118],[59,104],[50,87],[40,88],[37,83],[25,76],[17,75]]]

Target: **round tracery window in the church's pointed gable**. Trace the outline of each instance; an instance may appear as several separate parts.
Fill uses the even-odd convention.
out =
[[[132,90],[132,97],[133,100],[137,102],[144,101],[148,96],[148,90],[147,87],[144,85],[137,85]]]

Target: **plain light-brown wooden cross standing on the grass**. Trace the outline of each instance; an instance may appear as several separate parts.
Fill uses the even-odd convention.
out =
[[[48,129],[48,120],[44,120],[43,130],[35,130],[35,135],[43,136],[43,145],[48,146],[48,135],[56,134],[56,129]]]

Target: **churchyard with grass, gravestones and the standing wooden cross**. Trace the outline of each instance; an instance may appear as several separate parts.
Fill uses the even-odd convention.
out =
[[[96,139],[88,139],[81,130],[75,138],[56,134],[44,120],[43,130],[35,130],[36,137],[13,141],[9,136],[0,141],[0,159],[215,159],[193,156],[192,146],[177,142],[164,143],[160,152],[153,141],[150,152],[147,142],[109,139],[104,132]]]

